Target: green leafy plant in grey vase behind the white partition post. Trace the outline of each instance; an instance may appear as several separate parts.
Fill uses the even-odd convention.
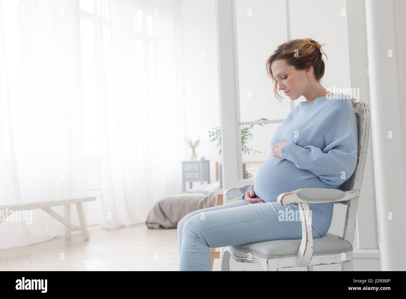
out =
[[[260,118],[258,119],[260,120],[268,120],[266,118]],[[261,127],[263,127],[264,124],[257,124]],[[251,133],[251,130],[253,128],[254,124],[251,124],[250,126],[246,126],[246,127],[242,127],[241,128],[241,150],[242,152],[245,153],[250,153],[250,151],[255,153],[262,153],[259,151],[254,151],[252,148],[248,148],[247,146],[247,142],[248,140],[253,140],[253,135]],[[212,137],[212,139],[210,141],[212,142],[217,142],[217,147],[219,148],[219,154],[221,153],[221,131],[220,131],[220,127],[214,127],[212,128],[213,131],[208,131],[209,133],[209,137]],[[246,165],[245,163],[242,164],[242,174],[243,174],[243,178],[246,179]],[[219,180],[219,186],[222,187],[222,168],[221,168],[221,163],[218,164],[218,180]]]

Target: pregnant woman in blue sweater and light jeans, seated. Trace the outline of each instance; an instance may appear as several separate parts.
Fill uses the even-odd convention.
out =
[[[279,217],[286,208],[288,215],[291,210],[296,215],[298,204],[281,206],[278,195],[300,188],[338,189],[355,170],[358,134],[352,102],[320,84],[320,44],[308,38],[288,41],[268,58],[266,70],[276,98],[279,89],[290,100],[304,96],[305,101],[276,130],[271,153],[242,200],[197,210],[179,221],[179,271],[210,271],[209,248],[302,238],[300,217]],[[326,235],[333,205],[309,204],[313,238]]]

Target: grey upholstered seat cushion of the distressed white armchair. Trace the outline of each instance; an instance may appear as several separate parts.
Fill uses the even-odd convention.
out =
[[[301,239],[274,240],[228,247],[233,253],[235,253],[235,249],[237,249],[246,253],[250,252],[261,258],[273,259],[297,256],[301,242]],[[327,233],[321,238],[313,239],[313,255],[334,254],[349,251],[352,251],[351,243],[343,240],[340,236],[335,234]]]

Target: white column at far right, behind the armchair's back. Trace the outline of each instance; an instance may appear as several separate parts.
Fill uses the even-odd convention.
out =
[[[406,5],[365,0],[365,14],[380,264],[399,271],[406,267]]]

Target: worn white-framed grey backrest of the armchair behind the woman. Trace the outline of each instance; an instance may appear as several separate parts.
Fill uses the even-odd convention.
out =
[[[358,159],[355,170],[351,177],[341,184],[339,190],[349,191],[353,189],[361,189],[362,179],[364,176],[365,163],[367,160],[368,137],[369,137],[369,107],[364,103],[355,102],[356,99],[351,98],[354,107],[356,126],[358,130]],[[348,201],[340,201],[346,205]]]

